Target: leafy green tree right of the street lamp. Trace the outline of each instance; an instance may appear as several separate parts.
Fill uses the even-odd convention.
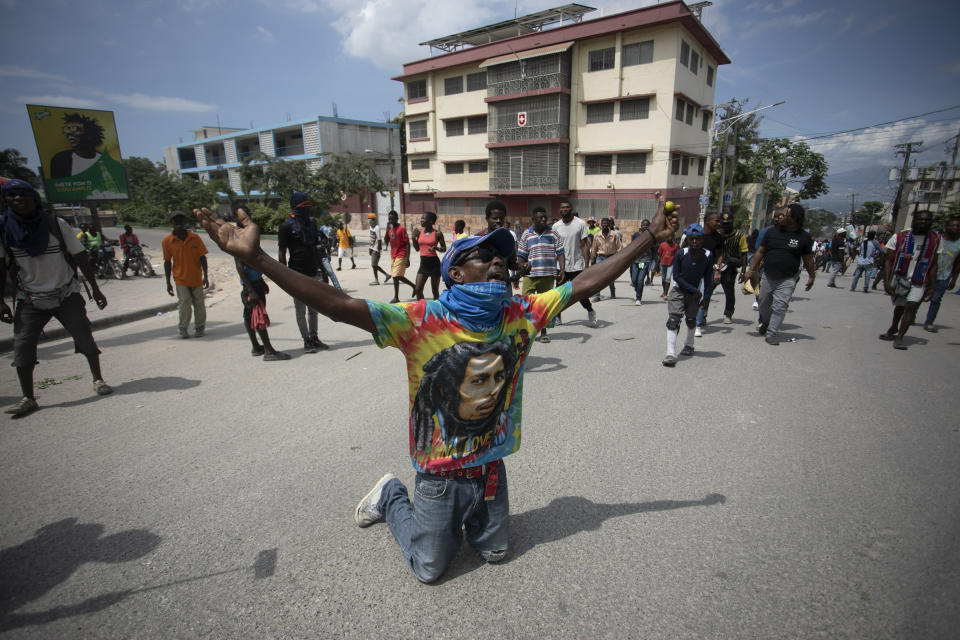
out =
[[[806,142],[791,142],[787,138],[761,140],[750,160],[753,175],[766,178],[764,188],[772,196],[771,206],[791,183],[800,184],[801,200],[827,193],[827,170],[823,154],[811,150]]]

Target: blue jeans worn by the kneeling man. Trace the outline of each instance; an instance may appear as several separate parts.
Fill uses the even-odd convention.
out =
[[[497,495],[484,500],[486,478],[440,478],[418,473],[416,500],[410,504],[407,487],[399,480],[384,485],[377,508],[400,545],[413,575],[433,582],[457,555],[463,533],[467,542],[488,562],[507,553],[510,502],[507,470],[500,461]]]

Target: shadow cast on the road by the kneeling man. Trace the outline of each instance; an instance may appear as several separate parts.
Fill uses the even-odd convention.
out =
[[[584,531],[596,531],[610,518],[687,507],[707,507],[723,504],[726,500],[726,496],[719,493],[711,493],[702,500],[655,500],[613,504],[593,502],[579,496],[554,498],[545,507],[510,516],[510,549],[501,564],[513,562],[537,545],[556,542]],[[483,564],[479,554],[465,544],[450,570],[433,584],[445,584]]]

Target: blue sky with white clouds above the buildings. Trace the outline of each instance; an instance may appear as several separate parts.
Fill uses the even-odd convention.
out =
[[[25,104],[115,113],[124,157],[161,160],[201,126],[333,115],[384,121],[418,43],[564,0],[0,0],[0,148],[36,167]],[[655,1],[620,0],[587,17]],[[894,145],[948,160],[960,132],[960,6],[943,0],[714,0],[703,22],[732,60],[716,101],[749,99],[764,137],[809,139],[830,165],[817,204],[890,200]],[[838,132],[852,130],[842,135]],[[879,176],[879,177],[877,177]]]

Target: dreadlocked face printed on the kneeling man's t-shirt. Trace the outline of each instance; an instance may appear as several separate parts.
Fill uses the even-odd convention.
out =
[[[457,457],[493,444],[514,360],[503,342],[460,342],[434,354],[423,366],[413,404],[416,450],[432,445],[437,426]]]

